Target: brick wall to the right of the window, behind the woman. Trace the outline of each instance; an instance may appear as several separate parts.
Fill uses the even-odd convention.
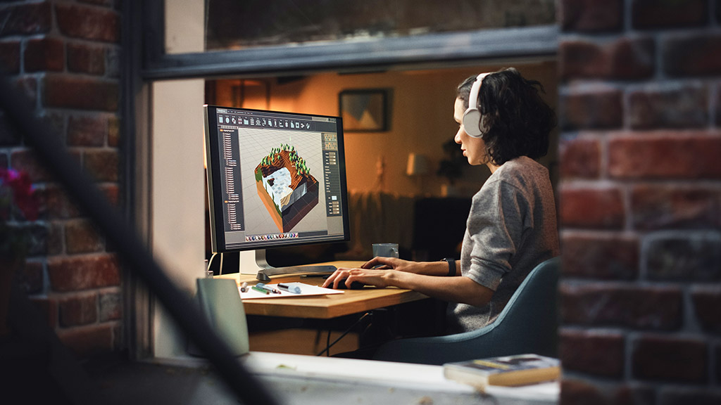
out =
[[[562,404],[721,403],[721,1],[557,18]]]

